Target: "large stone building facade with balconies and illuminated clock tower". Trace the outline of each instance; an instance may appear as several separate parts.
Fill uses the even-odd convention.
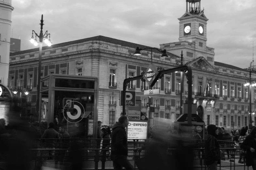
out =
[[[177,67],[183,51],[183,63],[192,67],[194,103],[205,124],[232,128],[234,122],[234,128],[246,126],[249,124],[249,90],[253,99],[251,110],[256,110],[256,89],[244,86],[249,72],[214,60],[215,49],[206,46],[208,19],[200,9],[192,9],[189,5],[187,12],[179,18],[179,41],[160,44],[159,50],[166,49],[168,58],[161,58],[157,50],[152,51],[152,56],[147,50],[142,51],[141,56],[134,56],[137,46],[146,46],[104,36],[79,39],[43,47],[41,68],[38,68],[38,48],[10,54],[9,88],[30,91],[22,96],[23,114],[26,115],[35,113],[38,70],[41,78],[49,74],[97,77],[99,92],[95,107],[98,108],[98,120],[110,125],[118,120],[122,111],[119,100],[123,80],[141,75],[150,65],[151,57],[157,67]],[[155,112],[149,115],[148,96],[144,96],[143,91],[157,88],[160,94],[151,96]],[[136,100],[141,100],[141,112],[150,116],[153,124],[156,117],[171,119],[170,122],[178,118],[187,89],[184,77],[182,93],[180,72],[166,74],[153,87],[141,80],[130,82],[127,87],[127,90],[136,91]],[[256,120],[254,115],[252,120]]]

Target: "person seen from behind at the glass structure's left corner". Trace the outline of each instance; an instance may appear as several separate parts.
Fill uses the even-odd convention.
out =
[[[59,134],[57,131],[54,130],[54,123],[49,123],[49,128],[44,131],[43,135],[41,136],[42,139],[46,140],[45,149],[55,149],[54,143],[55,139],[59,139]],[[49,155],[49,159],[54,159],[54,150],[45,150],[45,155]]]

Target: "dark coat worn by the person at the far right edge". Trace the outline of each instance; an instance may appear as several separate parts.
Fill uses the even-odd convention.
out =
[[[241,144],[241,148],[246,150],[246,165],[247,166],[252,166],[253,165],[253,158],[255,158],[255,153],[252,153],[250,151],[250,148],[256,149],[256,141],[255,141],[255,135],[249,134],[244,142]]]

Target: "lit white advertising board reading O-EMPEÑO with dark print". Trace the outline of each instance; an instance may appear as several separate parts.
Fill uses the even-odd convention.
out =
[[[144,141],[142,139],[147,139],[148,135],[148,121],[129,121],[128,124],[128,141],[133,141],[134,139],[140,139],[139,141]]]

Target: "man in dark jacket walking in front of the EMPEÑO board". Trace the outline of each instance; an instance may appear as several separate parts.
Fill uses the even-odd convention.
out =
[[[111,159],[114,170],[134,170],[133,165],[127,160],[128,147],[125,128],[128,127],[129,121],[126,116],[121,116],[118,123],[114,124],[111,133]]]

